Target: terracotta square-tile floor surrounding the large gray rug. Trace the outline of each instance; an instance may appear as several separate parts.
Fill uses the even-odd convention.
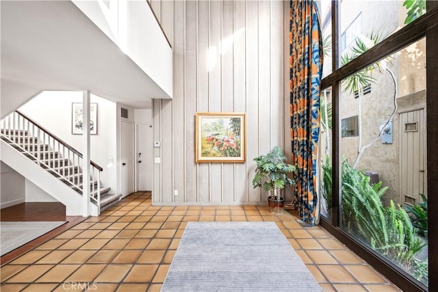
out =
[[[131,194],[3,265],[1,291],[159,291],[188,221],[273,221],[324,291],[400,291],[320,226],[268,207],[154,207]]]

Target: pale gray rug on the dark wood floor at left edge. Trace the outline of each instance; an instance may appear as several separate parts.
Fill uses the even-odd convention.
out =
[[[0,255],[3,256],[65,223],[65,221],[0,222]]]

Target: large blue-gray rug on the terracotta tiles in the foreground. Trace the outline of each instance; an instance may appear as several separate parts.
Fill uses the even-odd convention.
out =
[[[322,291],[274,222],[188,222],[162,291]]]

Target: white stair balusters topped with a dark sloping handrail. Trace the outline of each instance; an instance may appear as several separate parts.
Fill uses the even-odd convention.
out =
[[[0,136],[42,168],[82,194],[82,154],[47,129],[14,111],[0,121]],[[90,200],[101,206],[101,171],[90,163]]]

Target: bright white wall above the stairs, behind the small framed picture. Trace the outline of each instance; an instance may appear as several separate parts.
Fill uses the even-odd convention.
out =
[[[82,152],[82,135],[72,134],[72,103],[82,102],[82,92],[44,91],[23,105],[19,111]],[[91,94],[97,103],[97,135],[91,135],[91,160],[101,165],[101,183],[116,191],[116,103]],[[107,167],[110,166],[110,167]]]

